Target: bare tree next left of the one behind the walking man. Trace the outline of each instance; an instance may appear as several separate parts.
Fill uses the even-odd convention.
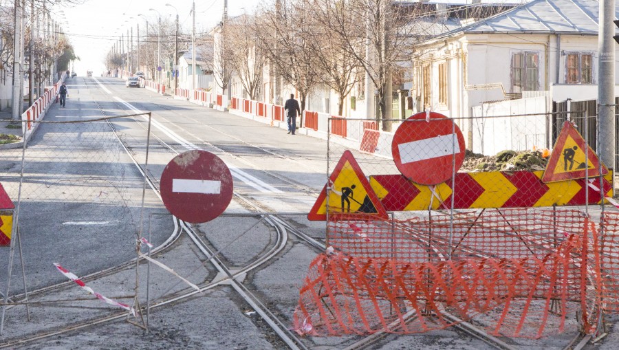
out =
[[[232,63],[250,100],[259,95],[262,69],[266,63],[260,47],[256,45],[255,17],[247,14],[230,19],[226,24],[224,50]]]

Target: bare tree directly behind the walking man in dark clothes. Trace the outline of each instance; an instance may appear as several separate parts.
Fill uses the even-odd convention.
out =
[[[278,2],[263,8],[259,14],[256,34],[261,52],[279,70],[281,77],[293,85],[301,100],[301,111],[307,96],[320,81],[316,70],[312,39],[312,3],[307,0]],[[301,114],[303,125],[303,114]]]

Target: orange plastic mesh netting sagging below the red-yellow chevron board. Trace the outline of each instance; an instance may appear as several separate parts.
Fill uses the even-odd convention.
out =
[[[475,318],[502,336],[591,331],[596,234],[576,210],[409,221],[339,215],[328,222],[332,248],[312,262],[301,289],[296,330],[416,333]]]

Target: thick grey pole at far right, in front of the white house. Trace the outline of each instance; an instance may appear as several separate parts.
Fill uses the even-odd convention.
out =
[[[600,1],[598,45],[598,145],[602,162],[615,169],[615,43],[613,19],[615,0]]]

